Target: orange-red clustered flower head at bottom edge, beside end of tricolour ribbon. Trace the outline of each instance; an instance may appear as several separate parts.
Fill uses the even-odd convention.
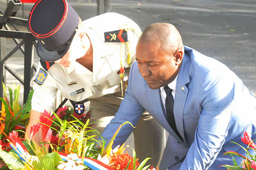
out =
[[[127,166],[130,159],[131,159],[131,162],[127,170],[132,170],[133,161],[131,156],[128,155],[128,153],[113,154],[111,156],[110,166],[113,167],[114,170],[125,170],[125,167]],[[139,162],[136,161],[135,170],[139,165],[140,165]]]

